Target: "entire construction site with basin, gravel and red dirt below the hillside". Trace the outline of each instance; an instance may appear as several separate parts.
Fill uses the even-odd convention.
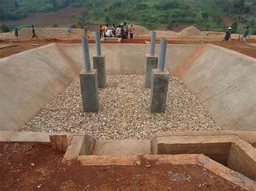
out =
[[[256,190],[256,37],[135,27],[0,35],[0,190]]]

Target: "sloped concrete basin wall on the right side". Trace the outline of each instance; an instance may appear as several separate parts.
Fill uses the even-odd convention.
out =
[[[172,70],[180,74],[221,129],[256,130],[256,59],[207,45],[192,63]]]

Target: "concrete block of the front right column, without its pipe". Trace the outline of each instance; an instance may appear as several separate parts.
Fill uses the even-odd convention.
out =
[[[152,69],[150,93],[150,112],[165,112],[170,74],[167,69]]]

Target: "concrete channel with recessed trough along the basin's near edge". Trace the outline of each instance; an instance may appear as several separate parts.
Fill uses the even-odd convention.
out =
[[[97,161],[97,156],[105,156],[107,160],[112,157],[113,161],[116,161],[120,157],[129,155],[182,154],[203,154],[251,180],[256,180],[255,148],[232,134],[173,136],[164,133],[163,136],[157,133],[152,140],[96,140],[90,136],[75,135],[70,141],[64,159],[72,160],[80,157],[86,160],[86,157],[89,159],[88,156],[91,156],[91,159]],[[131,158],[133,157],[130,157],[131,161],[138,159],[137,157]],[[99,162],[99,164],[103,163]]]

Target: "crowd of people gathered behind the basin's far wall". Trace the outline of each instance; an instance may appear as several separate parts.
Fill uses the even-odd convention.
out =
[[[111,37],[116,37],[116,38],[122,38],[122,39],[127,39],[128,34],[130,33],[130,38],[133,38],[133,33],[135,29],[133,25],[128,27],[126,22],[124,24],[120,24],[116,26],[115,24],[112,25],[112,27],[109,27],[109,24],[106,24],[105,26],[99,25],[99,34],[100,38],[111,38]]]

